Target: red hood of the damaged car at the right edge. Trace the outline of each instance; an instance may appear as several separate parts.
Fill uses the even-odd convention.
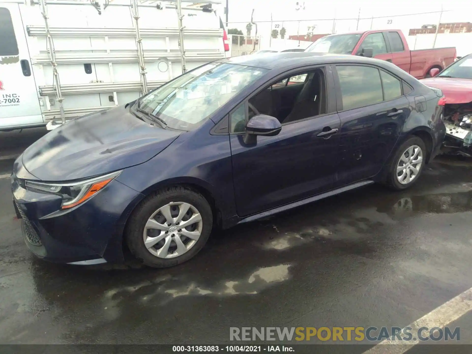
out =
[[[438,88],[444,94],[447,104],[472,101],[472,80],[453,77],[431,77],[421,80],[422,84]]]

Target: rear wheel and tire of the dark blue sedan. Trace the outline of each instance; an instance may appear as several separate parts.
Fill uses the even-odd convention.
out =
[[[413,148],[413,150],[411,150]],[[421,149],[417,152],[417,149]],[[408,151],[410,150],[410,151]],[[414,157],[412,160],[410,153],[413,151]],[[415,155],[416,153],[416,155]],[[403,144],[401,144],[393,155],[392,160],[388,166],[386,184],[394,190],[400,191],[406,188],[410,188],[418,181],[421,176],[424,164],[426,163],[427,151],[423,140],[418,136],[411,136]],[[403,156],[403,158],[402,158]],[[421,164],[418,163],[419,157],[421,157]],[[402,158],[402,161],[400,159]],[[415,163],[416,162],[416,163]],[[405,165],[405,169],[398,170]],[[409,171],[408,171],[409,170]],[[418,172],[415,172],[417,170]],[[404,173],[406,175],[404,175]],[[410,179],[408,181],[408,173]],[[402,178],[403,177],[403,178]]]

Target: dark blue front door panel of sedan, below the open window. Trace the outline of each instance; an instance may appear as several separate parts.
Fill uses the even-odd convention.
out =
[[[244,104],[240,107],[243,110]],[[331,189],[339,139],[337,134],[318,136],[331,129],[339,129],[337,113],[283,125],[277,136],[258,136],[253,146],[244,143],[244,135],[231,135],[238,215],[248,216]]]

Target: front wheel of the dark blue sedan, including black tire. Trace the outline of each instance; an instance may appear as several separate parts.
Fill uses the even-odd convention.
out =
[[[194,223],[179,228],[191,218]],[[138,205],[126,225],[125,238],[143,264],[167,268],[194,257],[208,241],[212,226],[213,213],[206,199],[189,188],[174,186],[152,193]]]

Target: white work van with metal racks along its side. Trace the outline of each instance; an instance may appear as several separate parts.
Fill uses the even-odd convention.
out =
[[[0,130],[134,101],[226,57],[214,0],[0,0]]]

